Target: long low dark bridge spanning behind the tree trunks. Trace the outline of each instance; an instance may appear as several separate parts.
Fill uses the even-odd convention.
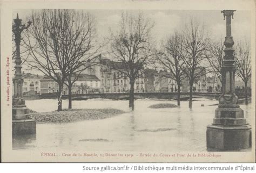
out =
[[[193,92],[193,98],[207,98],[207,99],[218,99],[221,93],[213,92]],[[57,99],[57,94],[43,94],[36,96],[23,96],[26,100],[31,99],[46,99],[52,98]],[[105,99],[129,99],[129,93],[90,93],[90,94],[79,94],[72,95],[72,100],[86,100],[92,98],[105,98]],[[156,99],[177,99],[177,92],[142,92],[134,93],[135,99],[145,98],[156,98]],[[187,100],[189,98],[189,92],[180,93],[181,100]],[[68,95],[63,95],[63,99],[68,99]]]

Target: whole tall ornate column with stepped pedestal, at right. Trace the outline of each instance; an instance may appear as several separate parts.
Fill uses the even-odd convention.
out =
[[[221,67],[223,93],[215,110],[213,124],[207,126],[207,150],[240,150],[251,147],[251,126],[239,107],[235,89],[234,41],[231,36],[231,17],[235,10],[223,10],[226,18],[225,56]]]

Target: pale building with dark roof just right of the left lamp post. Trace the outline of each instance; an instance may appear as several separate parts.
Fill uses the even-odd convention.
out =
[[[41,79],[43,76],[23,72],[23,95],[41,94]]]

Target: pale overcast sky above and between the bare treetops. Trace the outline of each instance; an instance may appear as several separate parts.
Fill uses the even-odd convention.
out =
[[[109,37],[111,29],[118,29],[118,23],[123,10],[84,10],[95,16],[97,21],[97,33],[99,40]],[[138,10],[129,10],[138,13]],[[140,10],[144,15],[154,21],[155,26],[152,34],[158,42],[168,35],[179,31],[191,18],[203,23],[213,40],[224,41],[226,36],[226,20],[221,10]],[[32,10],[14,10],[13,17],[25,21],[31,15]],[[251,13],[250,11],[235,11],[232,19],[232,36],[234,41],[251,38]]]

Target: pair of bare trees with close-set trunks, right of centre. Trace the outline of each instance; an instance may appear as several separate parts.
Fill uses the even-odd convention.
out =
[[[178,106],[180,105],[181,81],[190,84],[189,107],[192,108],[193,83],[196,78],[205,75],[206,55],[210,48],[210,38],[204,25],[193,19],[185,25],[184,30],[176,32],[164,41],[157,56],[157,64],[169,72],[170,78],[177,82]]]

